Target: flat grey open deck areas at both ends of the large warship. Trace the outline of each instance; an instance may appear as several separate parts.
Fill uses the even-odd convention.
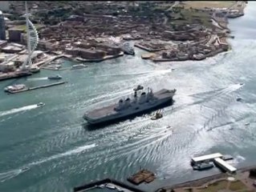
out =
[[[154,93],[154,97],[158,99],[170,98],[170,97],[173,97],[173,92],[171,90],[162,89]],[[85,116],[87,116],[87,118],[95,119],[95,118],[103,118],[105,116],[112,115],[112,114],[117,114],[118,112],[114,110],[116,106],[117,104],[112,104],[110,106],[104,106],[103,108],[100,108],[100,109],[91,110],[90,112],[85,114]]]

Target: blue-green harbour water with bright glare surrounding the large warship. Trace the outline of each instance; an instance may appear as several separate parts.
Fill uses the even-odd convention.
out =
[[[71,191],[101,178],[126,182],[143,167],[157,175],[155,182],[139,186],[150,192],[218,173],[196,172],[189,165],[191,156],[213,152],[233,155],[236,167],[254,165],[255,17],[256,2],[249,2],[245,16],[230,20],[233,50],[201,62],[152,63],[136,49],[136,57],[59,71],[68,82],[61,86],[21,94],[1,91],[0,191]],[[29,77],[38,79],[0,82],[0,90],[18,82],[47,84],[44,78],[54,74],[41,70]],[[146,114],[87,128],[82,118],[86,110],[116,102],[138,84],[177,89],[164,118],[151,121]],[[46,105],[38,107],[38,102]]]

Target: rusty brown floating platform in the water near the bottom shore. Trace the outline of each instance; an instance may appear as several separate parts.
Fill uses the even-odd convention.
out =
[[[153,174],[151,171],[140,170],[138,173],[133,174],[127,180],[128,182],[132,182],[132,184],[140,185],[141,182],[152,182],[155,178],[155,174]]]

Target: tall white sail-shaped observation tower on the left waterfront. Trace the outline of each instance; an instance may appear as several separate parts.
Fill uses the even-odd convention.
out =
[[[29,14],[25,2],[26,7],[26,47],[27,47],[27,58],[23,62],[21,69],[22,70],[30,70],[30,67],[32,65],[31,56],[36,48],[36,46],[39,43],[39,34],[38,31],[35,29],[35,26],[32,22],[30,22]]]

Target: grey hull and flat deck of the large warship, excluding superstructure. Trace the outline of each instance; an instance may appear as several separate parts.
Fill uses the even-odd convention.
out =
[[[173,104],[173,92],[170,90],[160,90],[155,93],[157,98],[153,104],[144,104],[139,109],[131,109],[127,111],[114,110],[117,104],[106,106],[98,110],[92,110],[91,112],[84,114],[83,118],[87,120],[89,125],[107,125],[113,122],[120,122],[125,119],[135,118],[141,114],[146,114],[152,110],[158,110],[165,106]]]

